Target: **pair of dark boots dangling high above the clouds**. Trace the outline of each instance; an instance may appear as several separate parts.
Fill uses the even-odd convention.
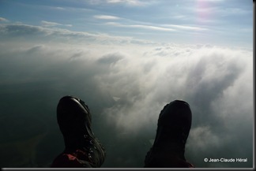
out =
[[[92,115],[85,102],[73,96],[62,97],[57,106],[57,121],[66,148],[51,167],[98,168],[104,163],[106,151],[92,132]],[[184,157],[190,127],[191,110],[186,102],[175,100],[164,106],[156,139],[145,156],[145,167],[193,167]]]

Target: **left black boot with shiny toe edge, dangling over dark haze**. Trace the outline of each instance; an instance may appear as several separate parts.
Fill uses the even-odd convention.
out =
[[[57,121],[66,147],[62,155],[76,158],[81,167],[100,167],[106,151],[92,132],[92,115],[85,102],[73,96],[62,97],[57,106]]]

